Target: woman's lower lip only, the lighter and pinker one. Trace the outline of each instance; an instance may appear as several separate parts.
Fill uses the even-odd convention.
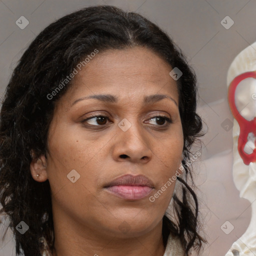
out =
[[[106,189],[123,199],[138,200],[147,196],[153,188],[149,186],[114,185]]]

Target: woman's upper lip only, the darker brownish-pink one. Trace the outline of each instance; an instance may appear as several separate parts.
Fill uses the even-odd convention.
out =
[[[117,177],[107,183],[104,187],[114,186],[114,185],[127,185],[127,186],[148,186],[154,187],[153,182],[144,175],[132,175],[132,174],[125,174],[120,177]]]

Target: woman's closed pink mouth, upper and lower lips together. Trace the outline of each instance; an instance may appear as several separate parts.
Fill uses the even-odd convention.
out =
[[[154,188],[153,182],[144,175],[125,174],[104,186],[107,191],[123,199],[138,200],[147,196]]]

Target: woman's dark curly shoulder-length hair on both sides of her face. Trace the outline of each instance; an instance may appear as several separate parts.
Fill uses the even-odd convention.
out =
[[[49,94],[73,68],[96,48],[124,49],[144,46],[171,67],[182,70],[177,80],[179,113],[183,129],[184,177],[180,195],[173,193],[176,218],[163,216],[162,235],[166,246],[169,233],[179,237],[185,254],[199,252],[205,239],[199,234],[198,203],[192,187],[191,168],[186,164],[202,121],[196,114],[196,78],[181,50],[157,25],[140,14],[109,5],[79,9],[49,24],[24,51],[6,87],[0,111],[0,203],[10,219],[16,253],[42,255],[42,242],[52,252],[54,245],[51,194],[48,180],[36,182],[30,173],[32,155],[47,151],[47,132],[57,100],[70,87],[68,82],[49,100]],[[189,180],[188,180],[189,179]],[[188,185],[189,182],[191,183]],[[29,226],[21,235],[15,226]]]

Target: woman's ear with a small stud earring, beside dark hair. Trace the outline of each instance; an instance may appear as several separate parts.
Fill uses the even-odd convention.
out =
[[[30,172],[32,178],[35,181],[43,182],[47,180],[48,175],[46,171],[46,158],[44,155],[40,155],[38,158],[34,158],[33,152],[31,152],[32,160],[30,162]]]

